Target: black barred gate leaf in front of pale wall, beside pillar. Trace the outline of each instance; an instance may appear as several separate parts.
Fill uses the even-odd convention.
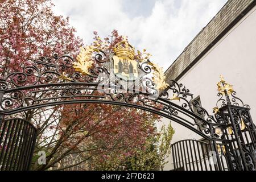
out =
[[[182,156],[182,157],[180,157]],[[220,162],[217,161],[220,159]],[[174,170],[225,171],[228,170],[224,155],[216,153],[212,140],[181,140],[172,144]]]

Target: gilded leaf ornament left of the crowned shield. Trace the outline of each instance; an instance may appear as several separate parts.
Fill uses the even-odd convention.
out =
[[[96,51],[96,47],[94,46],[86,46],[85,49],[83,47],[80,48],[80,54],[77,56],[77,62],[73,63],[73,68],[76,71],[82,73],[83,75],[92,75],[89,72],[89,69],[92,68],[92,53]]]

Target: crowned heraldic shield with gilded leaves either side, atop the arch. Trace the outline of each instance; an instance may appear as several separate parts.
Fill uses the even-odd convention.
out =
[[[73,68],[90,78],[98,73],[108,73],[101,81],[119,85],[123,90],[134,90],[136,87],[137,90],[144,88],[149,93],[159,94],[161,90],[168,87],[163,69],[149,60],[151,55],[146,53],[146,49],[135,52],[135,48],[129,44],[127,37],[122,36],[122,40],[109,51],[102,51],[102,49],[106,49],[106,45],[81,48]],[[101,71],[97,73],[96,70]],[[61,77],[69,79],[65,75]]]

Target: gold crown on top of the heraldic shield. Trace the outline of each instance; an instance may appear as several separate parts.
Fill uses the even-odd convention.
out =
[[[127,36],[122,36],[122,41],[115,44],[114,53],[123,59],[134,60],[135,58],[135,49],[128,43]]]

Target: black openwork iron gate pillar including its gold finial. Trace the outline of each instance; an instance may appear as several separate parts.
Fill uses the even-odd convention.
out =
[[[216,107],[216,118],[222,124],[222,138],[225,146],[225,156],[230,170],[255,171],[256,129],[251,119],[250,108],[236,97],[232,85],[227,84],[223,77],[218,82],[218,102],[221,108]],[[217,106],[218,106],[217,102]]]

